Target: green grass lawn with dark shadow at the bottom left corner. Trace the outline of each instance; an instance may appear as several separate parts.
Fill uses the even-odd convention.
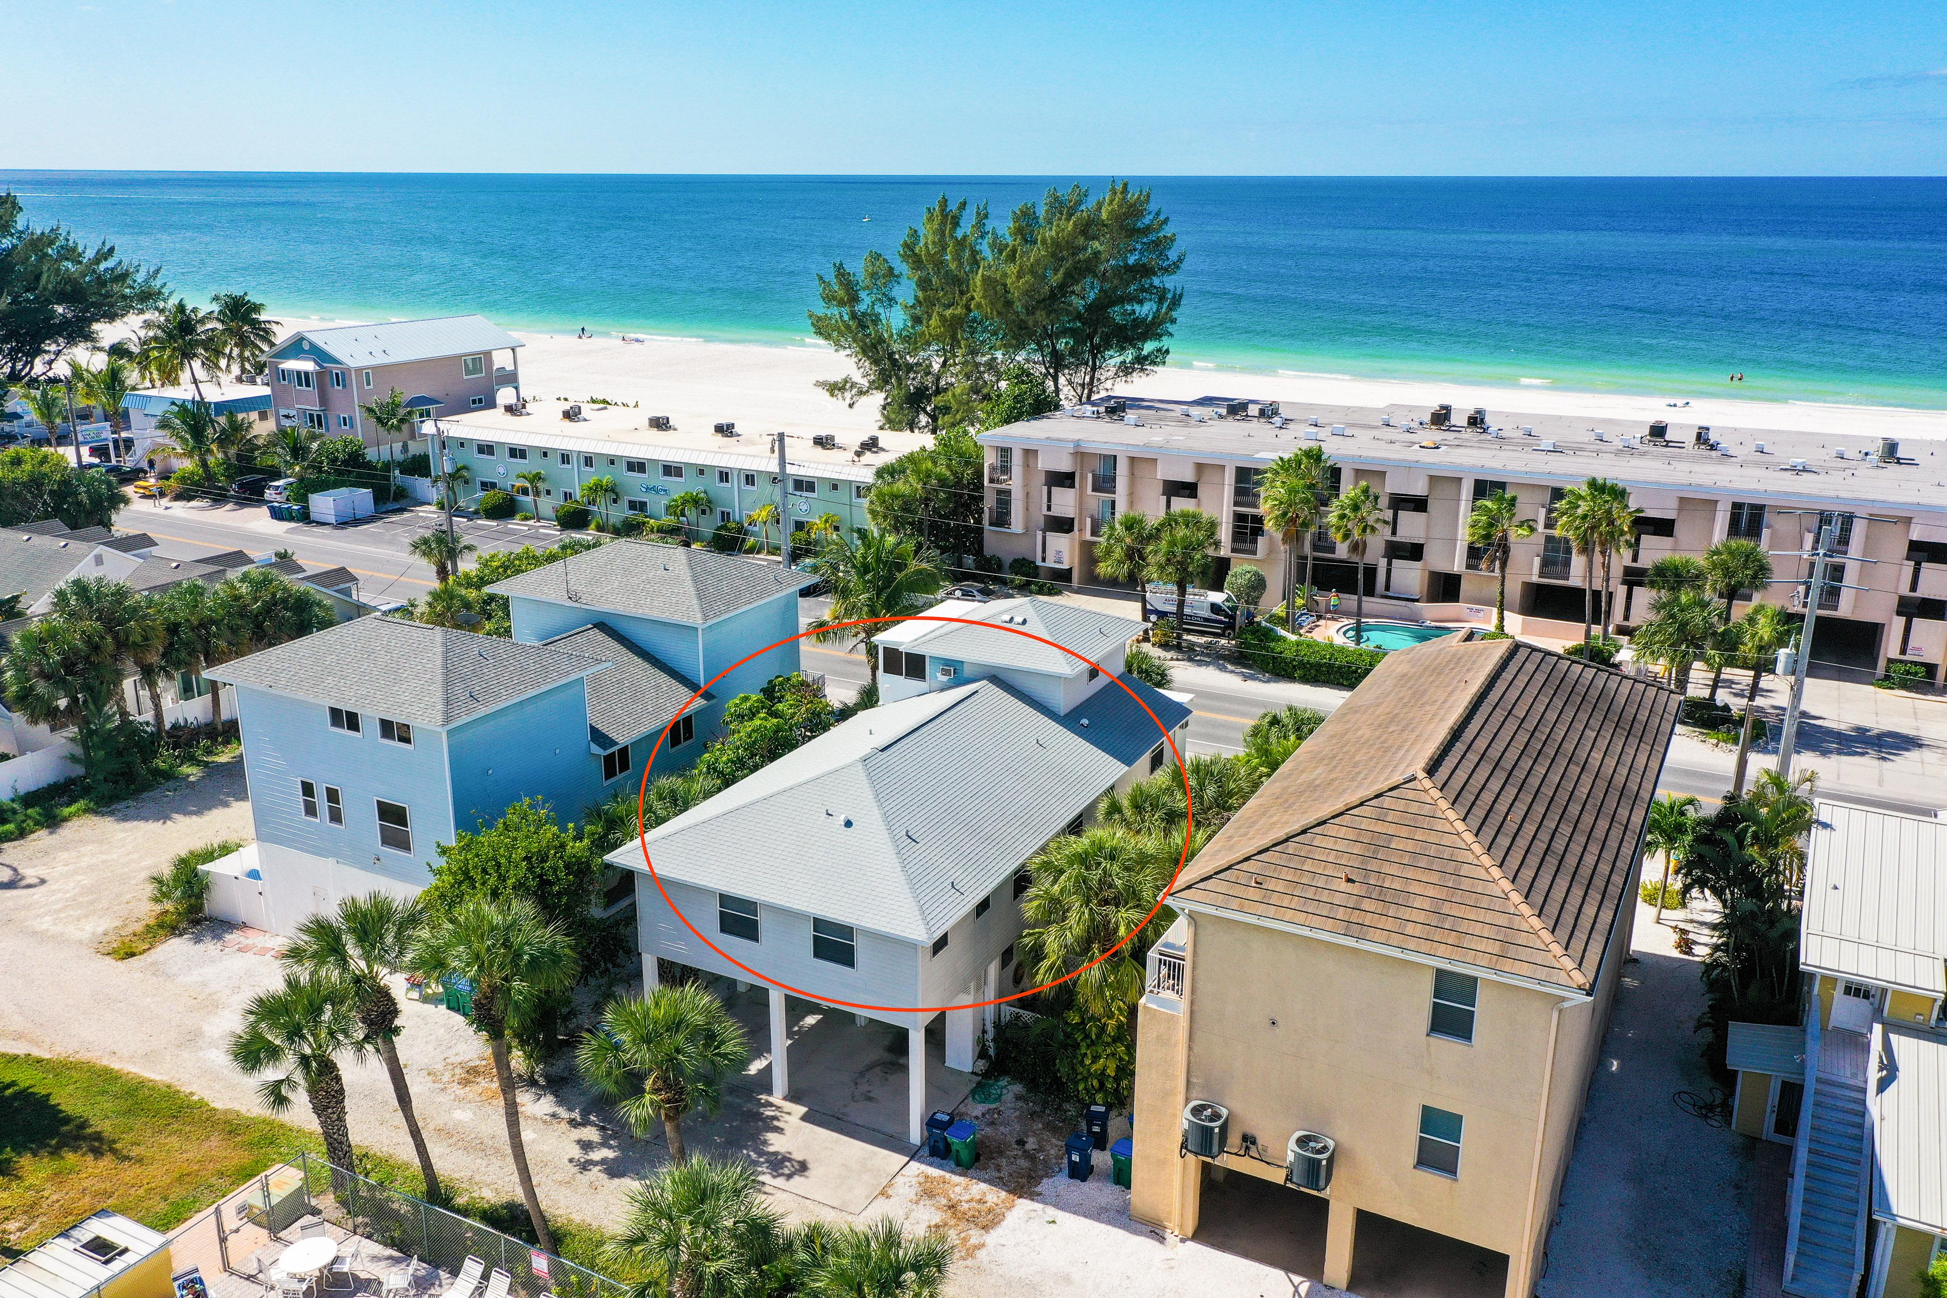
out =
[[[0,1053],[0,1259],[99,1208],[169,1230],[298,1150],[323,1154],[323,1142],[302,1127],[218,1109],[121,1068]],[[424,1189],[415,1166],[382,1154],[360,1152],[358,1172],[409,1195]],[[506,1197],[456,1187],[452,1207],[526,1238],[528,1214],[512,1181],[508,1164]],[[563,1257],[615,1275],[598,1259],[600,1230],[553,1214],[549,1224]]]

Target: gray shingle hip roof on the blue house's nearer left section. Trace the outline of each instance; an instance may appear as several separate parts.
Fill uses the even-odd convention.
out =
[[[354,617],[204,675],[415,726],[458,726],[602,669],[606,664],[596,658],[549,644],[520,644],[401,617]]]

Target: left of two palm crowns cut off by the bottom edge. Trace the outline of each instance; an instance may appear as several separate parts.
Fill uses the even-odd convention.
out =
[[[785,1230],[750,1164],[687,1158],[629,1191],[606,1261],[648,1279],[637,1298],[740,1298],[779,1259]]]

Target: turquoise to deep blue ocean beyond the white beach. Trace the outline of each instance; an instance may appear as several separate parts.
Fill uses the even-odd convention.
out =
[[[0,171],[0,189],[193,300],[245,290],[286,321],[479,311],[810,346],[833,261],[894,253],[942,193],[1005,224],[1071,179],[1104,185]],[[1170,364],[1947,407],[1947,179],[1133,179],[1188,257]]]

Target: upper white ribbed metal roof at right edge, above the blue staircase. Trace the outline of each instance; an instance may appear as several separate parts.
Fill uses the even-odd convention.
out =
[[[1947,994],[1947,825],[1820,802],[1811,837],[1799,963]]]

